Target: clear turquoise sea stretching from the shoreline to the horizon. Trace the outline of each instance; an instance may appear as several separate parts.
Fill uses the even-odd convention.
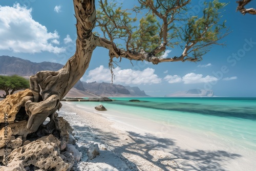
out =
[[[256,98],[112,98],[99,103],[120,115],[130,114],[194,133],[207,134],[256,152]],[[130,102],[138,99],[140,102]]]

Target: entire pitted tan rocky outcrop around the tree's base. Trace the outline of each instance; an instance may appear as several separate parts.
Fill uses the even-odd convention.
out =
[[[28,130],[25,101],[31,98],[25,90],[0,101],[0,170],[70,170],[81,157],[72,127],[56,113],[36,132]]]

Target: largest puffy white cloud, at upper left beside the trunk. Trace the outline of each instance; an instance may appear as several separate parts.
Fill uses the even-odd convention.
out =
[[[48,32],[45,26],[33,20],[31,11],[19,4],[0,6],[0,50],[23,53],[65,51],[51,43],[57,42],[58,32]]]

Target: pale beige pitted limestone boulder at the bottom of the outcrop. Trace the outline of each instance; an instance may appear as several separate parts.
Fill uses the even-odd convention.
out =
[[[59,141],[56,141],[57,138],[50,135],[48,137],[42,137],[41,139],[46,141],[53,140],[53,142],[49,143],[36,140],[14,149],[8,156],[8,166],[16,165],[17,161],[21,161],[23,168],[32,164],[42,170],[70,170],[72,167],[71,163],[66,163],[59,156]]]

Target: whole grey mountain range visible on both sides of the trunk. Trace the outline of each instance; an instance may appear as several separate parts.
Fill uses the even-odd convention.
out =
[[[36,74],[38,71],[57,71],[63,65],[54,62],[31,62],[17,57],[0,56],[0,75],[19,75],[28,78]],[[148,96],[138,87],[122,86],[120,84],[97,83],[97,82],[81,82],[75,84],[75,89],[71,90],[67,96],[69,97],[135,97]]]

